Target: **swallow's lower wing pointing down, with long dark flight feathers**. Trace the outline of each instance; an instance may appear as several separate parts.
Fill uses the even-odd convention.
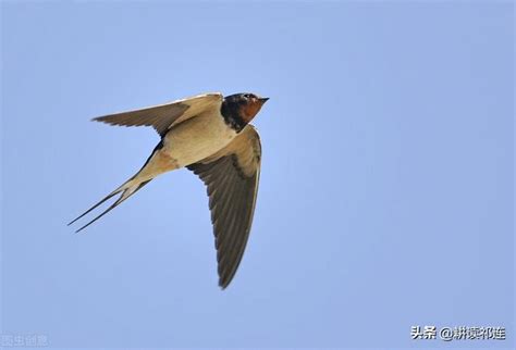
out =
[[[235,275],[249,237],[260,160],[260,138],[247,125],[225,148],[187,166],[207,186],[222,289]]]

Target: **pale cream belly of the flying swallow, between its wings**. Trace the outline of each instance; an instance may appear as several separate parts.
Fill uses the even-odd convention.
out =
[[[199,115],[174,126],[163,139],[162,151],[182,167],[213,154],[235,136],[222,115]]]

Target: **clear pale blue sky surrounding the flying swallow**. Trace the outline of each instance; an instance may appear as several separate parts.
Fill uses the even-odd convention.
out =
[[[51,347],[514,347],[509,1],[1,4],[4,335]],[[89,120],[267,97],[254,227],[217,286],[208,199],[137,171],[150,128]],[[75,227],[76,228],[76,227]],[[505,341],[411,340],[503,326]]]

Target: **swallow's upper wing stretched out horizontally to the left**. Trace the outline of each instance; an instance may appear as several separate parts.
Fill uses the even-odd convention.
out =
[[[124,126],[152,126],[163,137],[169,128],[202,112],[219,112],[222,93],[205,93],[140,110],[98,116],[96,122]]]

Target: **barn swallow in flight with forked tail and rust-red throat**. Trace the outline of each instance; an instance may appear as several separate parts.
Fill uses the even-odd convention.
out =
[[[81,232],[160,174],[186,167],[207,186],[216,238],[219,286],[231,283],[249,237],[260,175],[261,143],[249,122],[268,98],[255,93],[206,93],[171,103],[94,118],[111,125],[152,126],[161,137],[144,166],[108,199],[111,207]]]

